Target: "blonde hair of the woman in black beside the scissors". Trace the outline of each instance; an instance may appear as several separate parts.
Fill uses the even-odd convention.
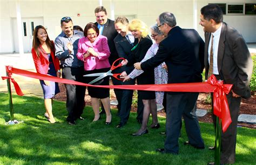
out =
[[[147,29],[147,25],[142,22],[140,19],[132,19],[131,23],[129,24],[130,31],[140,31],[142,32],[142,37],[146,37],[149,35],[149,29]]]

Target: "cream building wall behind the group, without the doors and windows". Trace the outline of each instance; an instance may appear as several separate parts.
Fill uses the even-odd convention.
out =
[[[43,18],[50,39],[61,32],[60,19],[70,16],[74,25],[82,28],[95,22],[94,9],[99,5],[97,0],[0,0],[0,53],[14,52],[14,37],[12,36],[12,19],[16,18],[16,2],[19,2],[22,18]],[[156,23],[159,13],[169,11],[174,13],[177,25],[181,28],[194,28],[204,38],[204,32],[199,22],[200,9],[208,3],[230,3],[231,1],[207,0],[103,0],[103,6],[111,18],[111,3],[114,15],[132,16],[142,19],[149,27]],[[232,0],[232,3],[255,3],[255,1]],[[80,13],[80,17],[77,14]],[[196,15],[194,15],[196,13]],[[224,16],[224,21],[238,29],[246,42],[256,42],[256,16]]]

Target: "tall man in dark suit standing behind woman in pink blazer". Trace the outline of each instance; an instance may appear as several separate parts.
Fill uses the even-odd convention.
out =
[[[114,38],[118,35],[116,29],[114,29],[114,21],[107,18],[107,12],[106,8],[104,6],[97,6],[95,9],[95,16],[96,16],[96,26],[99,28],[99,35],[103,35],[107,38],[107,44],[109,45],[110,49],[110,57],[109,57],[109,63],[110,65],[113,64],[113,62],[118,59],[118,54],[116,51],[116,46],[114,45]],[[112,73],[121,73],[122,70],[117,68],[116,70],[113,70]],[[119,81],[115,78],[112,78],[113,85],[121,85],[122,81]],[[116,94],[116,98],[118,101],[118,112],[120,111],[121,106],[121,99],[122,99],[122,90],[114,89],[114,94]],[[102,106],[102,112],[100,114],[105,113],[104,107]]]

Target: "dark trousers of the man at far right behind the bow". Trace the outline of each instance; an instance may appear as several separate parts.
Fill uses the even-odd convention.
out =
[[[213,98],[213,94],[211,94]],[[241,104],[241,97],[232,97],[232,92],[226,95],[228,106],[230,108],[231,124],[227,128],[226,132],[221,131],[221,153],[220,153],[220,163],[232,164],[235,162],[235,146],[237,144],[237,123],[238,123],[238,113]],[[212,101],[213,102],[213,101]],[[212,104],[213,108],[213,104]],[[216,116],[212,115],[214,127],[216,128]]]

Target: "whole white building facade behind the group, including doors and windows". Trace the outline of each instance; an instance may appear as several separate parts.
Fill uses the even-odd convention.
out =
[[[250,0],[0,0],[0,54],[30,52],[33,28],[43,25],[51,40],[61,32],[60,19],[69,16],[82,28],[95,22],[96,6],[105,6],[110,19],[126,16],[142,19],[149,27],[161,12],[172,12],[181,28],[196,29],[204,39],[198,24],[200,9],[216,3],[224,11],[224,22],[242,33],[247,43],[256,43],[256,1]]]

